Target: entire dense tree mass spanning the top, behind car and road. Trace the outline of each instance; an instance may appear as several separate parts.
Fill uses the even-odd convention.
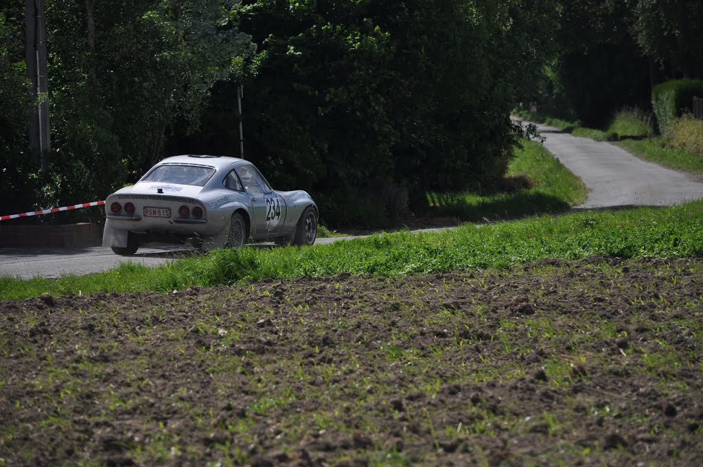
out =
[[[239,155],[243,85],[245,157],[311,191],[325,220],[373,221],[388,193],[494,188],[520,102],[596,122],[646,103],[660,77],[701,72],[693,0],[45,3],[46,174],[27,138],[25,2],[0,7],[11,210],[103,199],[173,153]]]

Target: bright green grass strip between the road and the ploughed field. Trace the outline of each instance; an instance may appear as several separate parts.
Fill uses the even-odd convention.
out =
[[[23,281],[0,279],[0,298],[170,290],[341,273],[399,276],[503,268],[541,258],[703,255],[703,200],[674,207],[574,212],[439,233],[378,233],[311,248],[215,250],[161,267],[124,264],[103,274]]]

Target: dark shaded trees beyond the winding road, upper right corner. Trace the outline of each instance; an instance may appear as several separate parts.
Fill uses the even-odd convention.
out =
[[[654,84],[703,76],[697,0],[561,0],[559,51],[543,110],[602,127],[627,106],[648,110]]]

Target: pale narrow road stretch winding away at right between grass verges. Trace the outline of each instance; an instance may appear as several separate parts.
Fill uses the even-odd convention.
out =
[[[588,188],[579,207],[664,206],[703,198],[703,177],[636,158],[607,141],[593,141],[537,125],[544,146]]]

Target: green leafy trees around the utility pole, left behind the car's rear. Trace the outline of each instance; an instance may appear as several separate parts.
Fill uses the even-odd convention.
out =
[[[193,131],[210,89],[239,72],[238,58],[251,51],[232,11],[239,4],[47,0],[47,174],[27,148],[24,4],[1,7],[0,193],[16,201],[13,211],[104,199],[162,158],[172,126]],[[90,217],[75,211],[60,221]]]

